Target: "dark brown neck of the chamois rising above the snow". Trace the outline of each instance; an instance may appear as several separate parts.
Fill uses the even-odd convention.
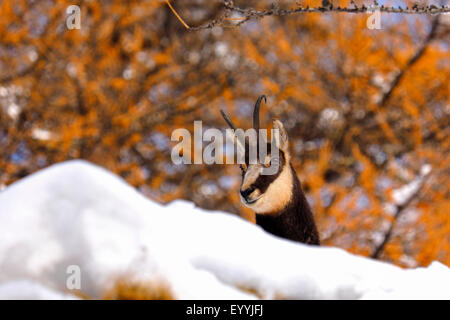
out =
[[[256,214],[256,223],[276,236],[313,245],[320,245],[314,217],[303,193],[300,180],[292,167],[292,198],[279,212],[271,215]]]

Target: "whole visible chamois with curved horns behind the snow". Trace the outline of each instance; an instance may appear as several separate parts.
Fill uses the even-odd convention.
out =
[[[259,109],[262,99],[267,102],[264,95],[260,96],[253,110],[253,129],[256,132],[259,132]],[[223,110],[220,112],[234,130],[234,141],[238,144],[238,148],[245,150],[245,163],[240,165],[242,171],[240,198],[246,207],[255,212],[256,224],[282,238],[320,245],[312,211],[290,161],[288,135],[283,124],[279,120],[273,120],[273,128],[279,130],[278,139],[272,139],[279,150],[278,170],[274,174],[264,175],[261,174],[264,167],[270,166],[274,160],[270,154],[271,144],[257,139],[258,150],[260,144],[267,144],[268,156],[250,163],[249,143],[245,140],[239,141],[236,126]]]

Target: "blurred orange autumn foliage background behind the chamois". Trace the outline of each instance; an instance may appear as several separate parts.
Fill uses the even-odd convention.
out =
[[[66,27],[73,4],[80,30]],[[225,13],[219,0],[171,4],[190,26]],[[368,16],[234,26],[233,13],[228,24],[192,31],[164,1],[3,0],[0,190],[83,158],[157,202],[186,199],[253,221],[238,197],[239,168],[174,165],[170,137],[192,132],[194,120],[225,129],[220,108],[248,128],[266,94],[261,120],[285,124],[324,245],[403,267],[450,265],[450,16],[382,13],[381,30],[367,28]]]

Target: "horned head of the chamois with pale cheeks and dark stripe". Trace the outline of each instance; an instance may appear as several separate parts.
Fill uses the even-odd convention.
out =
[[[258,98],[253,111],[253,129],[257,133],[259,132],[259,109],[262,99],[266,100],[266,97],[262,95]],[[237,128],[231,119],[222,110],[221,114],[236,133]],[[258,154],[263,144],[267,148],[265,158],[257,157],[257,161],[250,161],[251,142],[245,138],[239,139],[234,134],[234,141],[237,143],[238,149],[245,150],[245,163],[240,164],[242,171],[241,201],[245,206],[261,215],[276,214],[286,207],[292,198],[293,171],[290,165],[288,135],[279,120],[273,120],[273,129],[275,132],[278,129],[279,134],[272,134],[272,143],[268,143],[265,139],[256,139]],[[279,152],[273,152],[274,148],[277,148]],[[272,153],[276,153],[278,156],[274,156]],[[263,174],[265,169],[272,168],[273,162],[276,162],[275,170],[271,170],[270,174],[267,174],[267,171]]]

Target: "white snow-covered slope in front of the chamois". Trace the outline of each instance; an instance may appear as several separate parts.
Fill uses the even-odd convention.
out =
[[[70,266],[81,271],[76,292]],[[162,206],[83,161],[0,193],[0,298],[102,298],[124,280],[178,299],[450,298],[440,263],[402,270],[189,202]]]

